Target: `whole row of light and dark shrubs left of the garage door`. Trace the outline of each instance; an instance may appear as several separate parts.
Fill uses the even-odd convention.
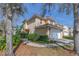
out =
[[[28,35],[28,39],[37,43],[49,43],[49,39],[47,35],[39,35],[36,33],[32,33]]]

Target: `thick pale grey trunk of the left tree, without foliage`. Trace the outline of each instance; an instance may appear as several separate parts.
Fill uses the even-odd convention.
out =
[[[13,55],[13,44],[12,44],[12,13],[11,8],[6,4],[6,55]]]

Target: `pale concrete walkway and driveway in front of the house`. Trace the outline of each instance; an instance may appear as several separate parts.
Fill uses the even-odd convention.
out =
[[[54,40],[57,44],[64,46],[64,45],[69,45],[69,46],[73,46],[73,40],[67,40],[67,39],[58,39],[58,40]],[[30,41],[26,41],[24,42],[24,44],[33,46],[33,47],[48,47],[48,48],[53,48],[53,47],[57,47],[57,44],[41,44],[41,43],[34,43],[34,42],[30,42]]]

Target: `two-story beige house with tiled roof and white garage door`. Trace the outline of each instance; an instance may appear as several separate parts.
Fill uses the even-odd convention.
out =
[[[24,32],[48,35],[49,39],[62,39],[62,30],[63,26],[57,24],[52,18],[36,15],[26,20],[22,29]]]

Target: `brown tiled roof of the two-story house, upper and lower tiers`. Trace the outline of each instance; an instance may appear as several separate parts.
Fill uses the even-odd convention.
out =
[[[39,18],[40,20],[50,20],[51,22],[55,22],[55,20],[52,20],[51,17],[41,17],[41,16],[38,16],[38,15],[34,15],[32,16],[29,20],[27,20],[26,22],[31,22],[32,20],[35,20],[35,18]],[[46,27],[53,27],[53,28],[56,28],[56,29],[61,29],[63,30],[63,25],[60,25],[58,23],[55,22],[55,25],[53,24],[44,24],[44,25],[40,25],[38,26],[37,28],[46,28]]]

